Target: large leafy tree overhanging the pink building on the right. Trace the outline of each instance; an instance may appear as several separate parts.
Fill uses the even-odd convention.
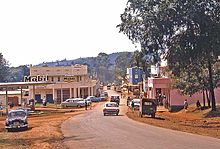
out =
[[[128,0],[118,27],[133,42],[139,42],[154,62],[163,55],[172,75],[185,80],[189,88],[197,80],[196,71],[190,70],[198,66],[207,70],[212,110],[216,110],[213,66],[220,55],[219,14],[215,0]]]

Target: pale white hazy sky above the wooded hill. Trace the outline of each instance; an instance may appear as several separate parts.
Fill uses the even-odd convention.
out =
[[[118,33],[127,0],[0,0],[0,52],[11,66],[75,59],[135,45]]]

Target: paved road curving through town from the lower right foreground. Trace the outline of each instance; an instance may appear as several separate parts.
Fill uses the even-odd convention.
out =
[[[71,149],[219,149],[220,140],[154,127],[120,116],[103,116],[102,104],[62,124]],[[122,104],[121,108],[124,104]]]

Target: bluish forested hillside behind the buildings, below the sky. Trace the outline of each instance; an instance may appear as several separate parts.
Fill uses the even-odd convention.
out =
[[[130,66],[133,52],[117,52],[112,54],[100,53],[97,57],[77,58],[73,60],[57,60],[54,62],[43,62],[35,66],[70,66],[75,64],[83,64],[88,66],[90,76],[97,77],[102,82],[113,82],[116,78],[115,71],[121,70],[123,75],[126,73],[126,66],[121,67],[120,61],[126,61],[126,65]],[[10,67],[8,81],[21,81],[24,75],[29,75],[27,66]],[[119,75],[117,73],[117,75]]]

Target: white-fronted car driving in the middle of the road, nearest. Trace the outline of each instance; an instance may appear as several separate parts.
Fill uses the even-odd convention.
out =
[[[118,115],[119,114],[119,106],[116,102],[107,102],[104,104],[103,108],[103,114],[104,116],[110,114],[110,115]]]

